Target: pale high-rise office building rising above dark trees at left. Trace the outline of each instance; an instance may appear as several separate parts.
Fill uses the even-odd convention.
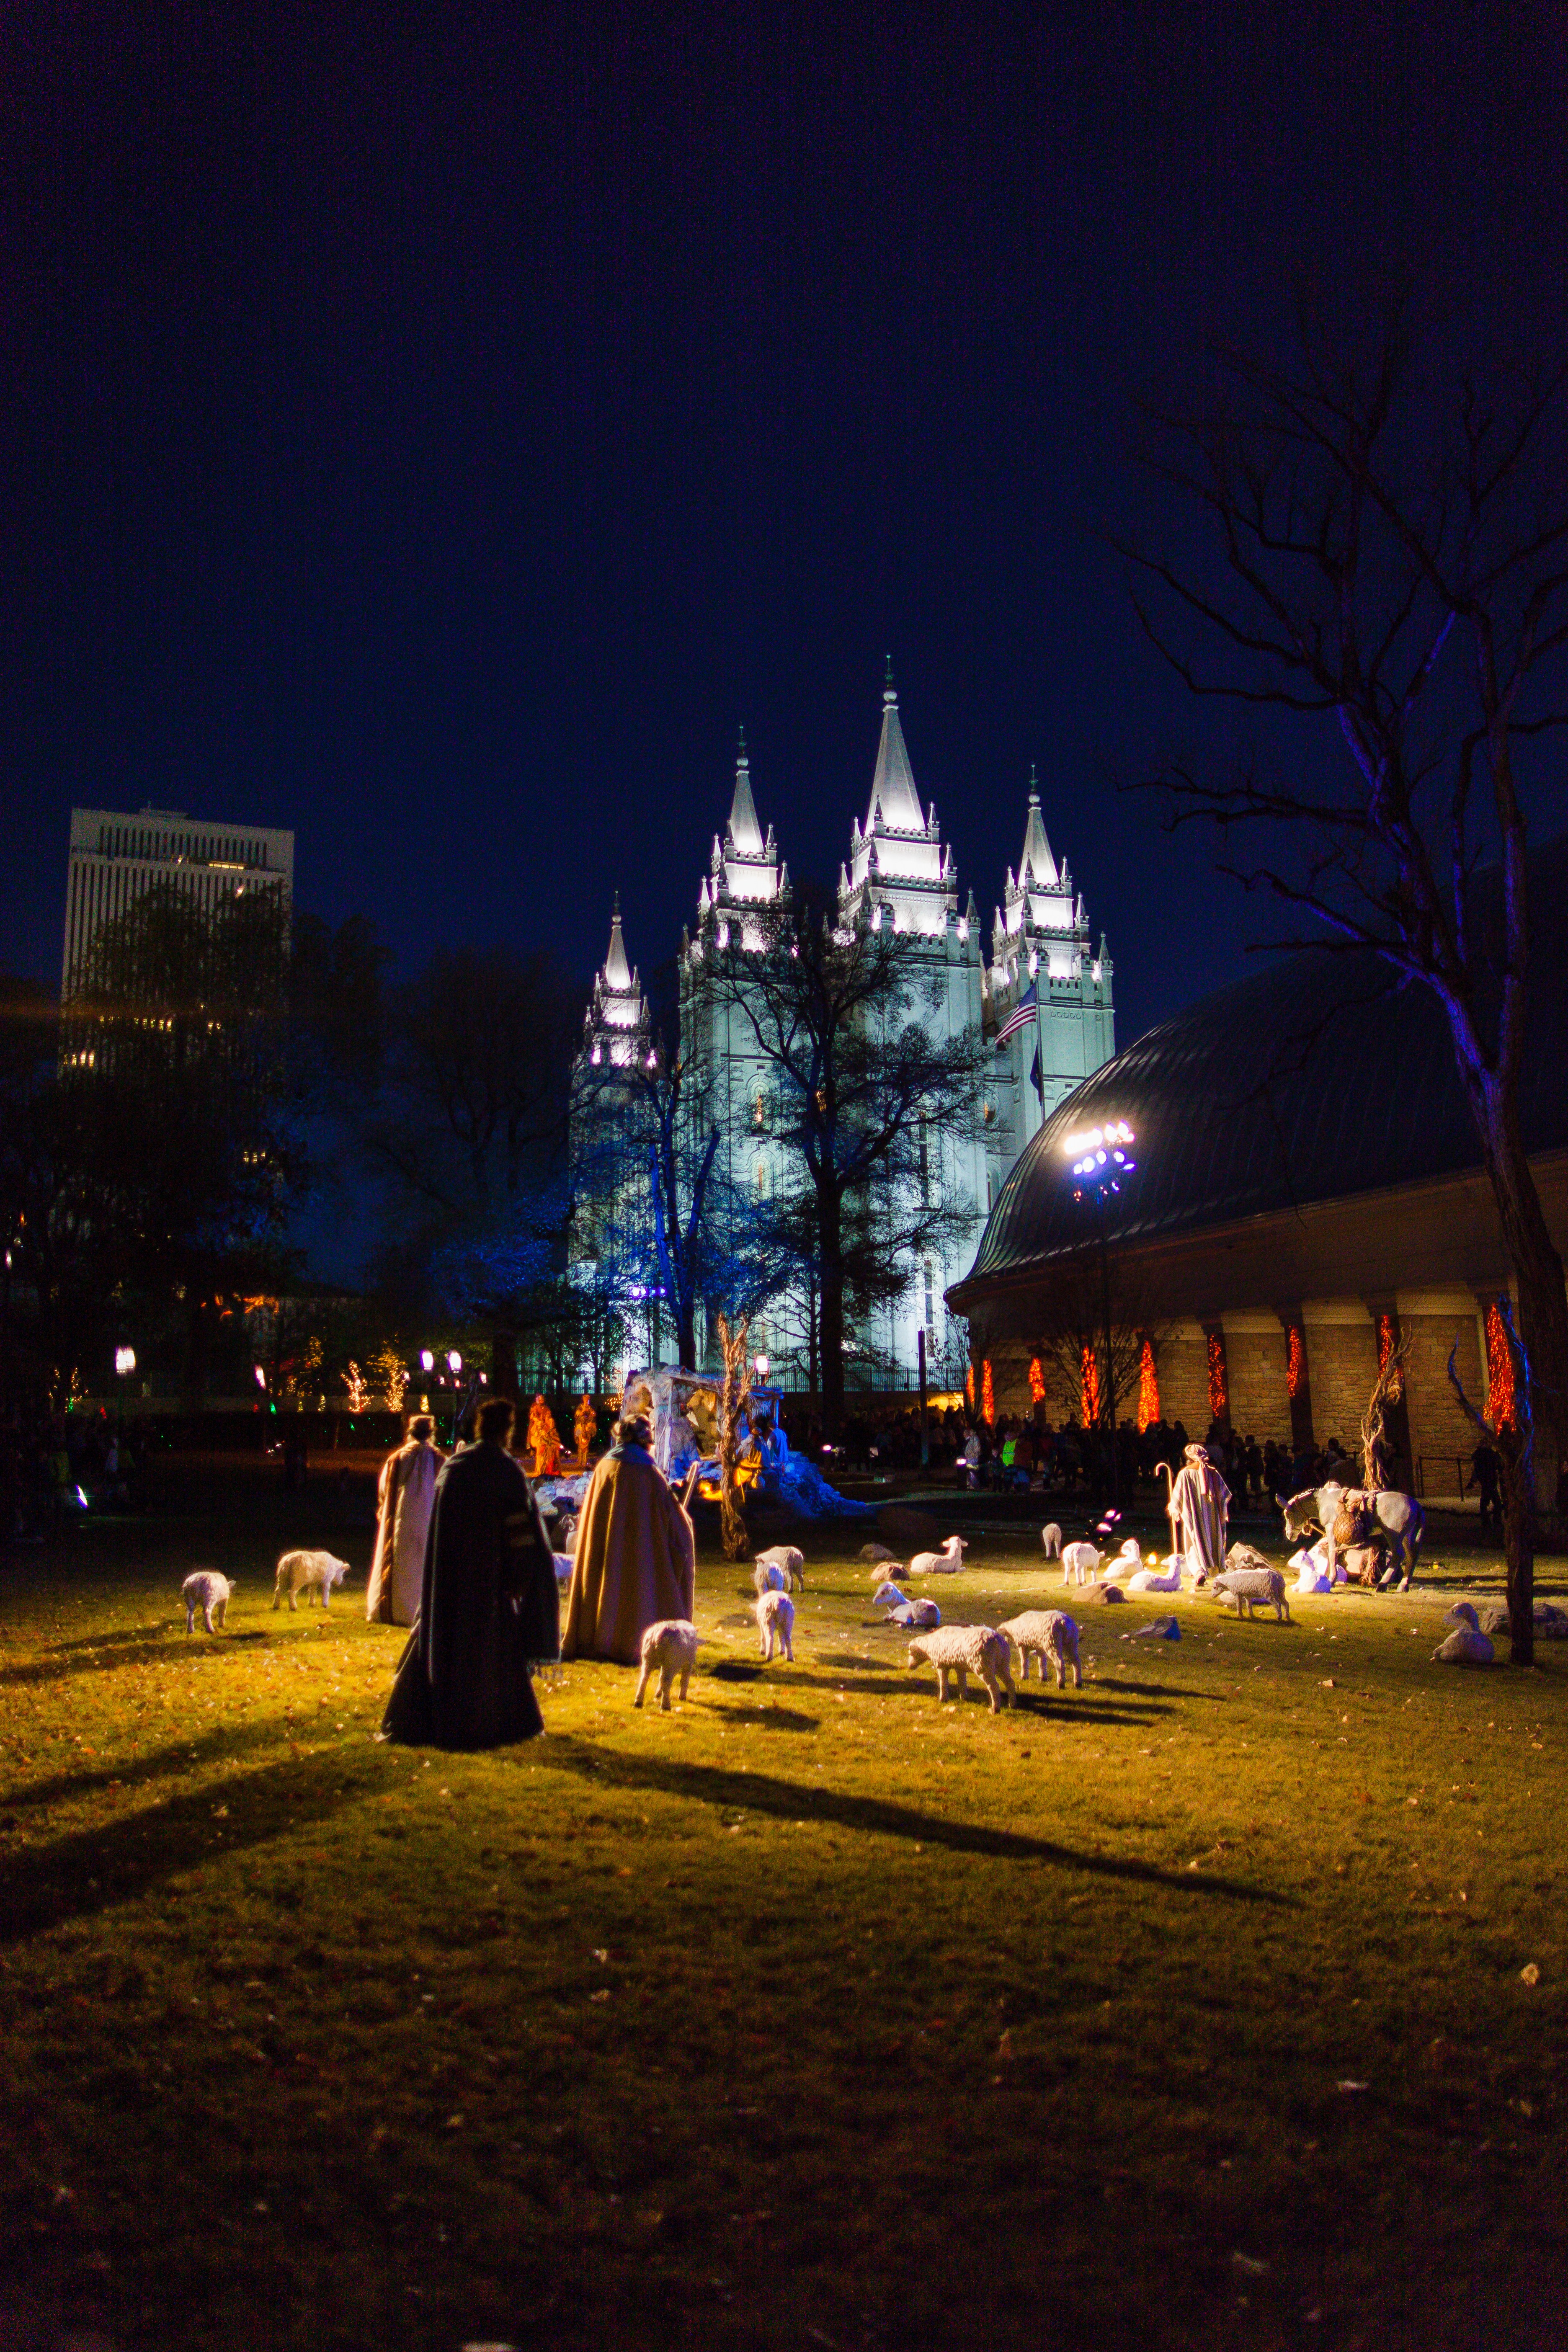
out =
[[[99,931],[146,891],[174,887],[202,908],[247,891],[294,898],[294,835],[270,826],[219,826],[181,809],[71,811],[61,1004],[78,995]]]

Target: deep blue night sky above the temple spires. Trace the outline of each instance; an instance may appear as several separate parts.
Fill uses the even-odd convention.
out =
[[[1302,285],[1549,329],[1561,12],[343,14],[0,31],[0,962],[59,981],[71,804],[150,800],[292,826],[404,967],[588,978],[618,887],[646,978],[741,720],[837,875],[891,654],[987,934],[1037,762],[1119,1040],[1229,976],[1251,903],[1114,790],[1237,736],[1105,546],[1187,529],[1131,400]]]

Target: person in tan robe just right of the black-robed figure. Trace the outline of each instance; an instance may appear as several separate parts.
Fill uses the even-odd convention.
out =
[[[646,1628],[689,1618],[693,1599],[691,1517],[654,1463],[649,1423],[621,1421],[578,1517],[562,1658],[637,1665]]]

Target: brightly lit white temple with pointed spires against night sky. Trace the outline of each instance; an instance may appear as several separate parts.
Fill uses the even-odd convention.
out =
[[[722,1131],[729,1200],[766,1200],[788,1181],[780,1145],[771,1134],[769,1089],[750,1021],[741,1004],[715,1004],[693,985],[705,955],[731,943],[757,948],[757,910],[790,889],[788,866],[773,833],[762,823],[752,790],[745,739],[724,830],[715,835],[708,873],[698,887],[696,927],[682,938],[682,1056],[705,1073],[705,1120]],[[919,1331],[933,1388],[957,1385],[961,1327],[945,1305],[945,1291],[969,1272],[992,1202],[1006,1176],[1051,1110],[1114,1054],[1112,964],[1100,938],[1093,948],[1084,898],[1067,861],[1051,854],[1039,788],[1030,779],[1023,849],[1009,868],[1004,903],[992,924],[992,962],[985,964],[973,889],[959,901],[952,844],[943,842],[936,802],[924,802],[889,677],[882,696],[882,739],[872,769],[865,818],[856,816],[849,858],[839,868],[839,908],[846,920],[889,922],[917,934],[929,978],[936,983],[931,1021],[947,1035],[980,1033],[987,1042],[987,1077],[978,1134],[933,1136],[933,1178],[959,1209],[961,1240],[947,1258],[924,1258],[907,1268],[907,1289],[896,1308],[882,1310],[877,1329],[851,1334],[846,1378],[851,1388],[907,1388],[917,1376]],[[609,953],[595,976],[583,1028],[578,1077],[604,1063],[630,1068],[649,1054],[649,1014],[621,934],[621,906],[611,922]],[[628,1089],[630,1117],[630,1089]],[[635,1216],[635,1197],[621,1202],[621,1221]],[[809,1305],[780,1301],[769,1310],[755,1343],[766,1350],[788,1385],[806,1385],[811,1355]]]

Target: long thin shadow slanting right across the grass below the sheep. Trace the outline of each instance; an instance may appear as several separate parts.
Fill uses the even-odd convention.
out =
[[[987,1853],[1011,1863],[1051,1863],[1058,1870],[1081,1870],[1088,1877],[1133,1879],[1145,1886],[1164,1886],[1171,1893],[1227,1896],[1232,1903],[1267,1903],[1281,1910],[1295,1907],[1291,1896],[1272,1893],[1267,1886],[1244,1886],[1208,1872],[1166,1870],[1161,1863],[1140,1863],[1114,1853],[1079,1853],[1058,1846],[1048,1837],[1027,1837],[1023,1830],[990,1830],[985,1823],[945,1820],[940,1813],[917,1813],[907,1804],[886,1804],[882,1797],[849,1797],[830,1788],[802,1788],[799,1780],[776,1780],[759,1771],[731,1771],[724,1764],[682,1764],[679,1757],[630,1757],[607,1748],[590,1748],[571,1733],[552,1736],[545,1750],[536,1750],[536,1762],[559,1771],[592,1778],[595,1788],[658,1790],[665,1797],[686,1797],[693,1804],[710,1804],[722,1811],[771,1813],[778,1820],[837,1823],[842,1830],[858,1830],[867,1837],[907,1837],[922,1846],[945,1846],[950,1853]]]

